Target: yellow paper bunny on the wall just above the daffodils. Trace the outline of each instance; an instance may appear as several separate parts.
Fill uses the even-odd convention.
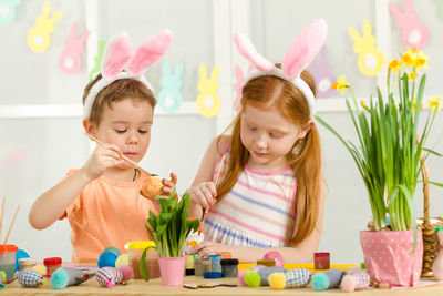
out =
[[[364,20],[363,37],[360,37],[356,28],[349,28],[349,34],[356,41],[353,51],[359,53],[360,72],[368,76],[377,75],[384,65],[384,54],[375,48],[377,40],[371,34],[371,23]]]

